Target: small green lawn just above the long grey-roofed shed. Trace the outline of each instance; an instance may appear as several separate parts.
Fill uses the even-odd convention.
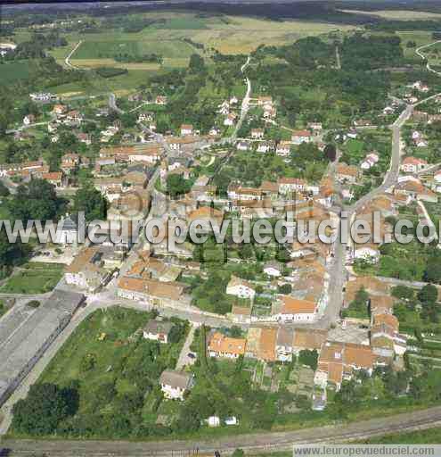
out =
[[[0,288],[4,294],[43,294],[55,287],[63,274],[59,263],[26,263]]]

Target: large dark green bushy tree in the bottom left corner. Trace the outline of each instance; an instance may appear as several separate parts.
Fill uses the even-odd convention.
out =
[[[28,396],[13,406],[12,427],[27,435],[51,435],[61,420],[78,411],[73,391],[50,383],[30,386]]]

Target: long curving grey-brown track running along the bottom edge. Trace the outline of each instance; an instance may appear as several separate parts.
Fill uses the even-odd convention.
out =
[[[231,454],[237,448],[251,452],[290,450],[293,445],[347,443],[389,433],[433,428],[441,424],[441,407],[412,411],[372,420],[343,423],[320,428],[304,428],[290,432],[265,432],[250,435],[224,436],[211,440],[170,440],[151,442],[68,441],[68,440],[4,440],[2,445],[13,455],[45,453],[48,457],[82,457],[130,455],[130,457],[176,457],[188,453]]]

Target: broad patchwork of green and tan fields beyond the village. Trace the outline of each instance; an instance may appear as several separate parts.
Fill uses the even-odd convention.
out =
[[[262,44],[282,45],[298,38],[321,35],[333,30],[346,31],[351,26],[306,21],[268,21],[231,16],[198,18],[190,13],[149,13],[144,17],[162,19],[137,33],[107,30],[106,33],[87,35],[69,34],[69,46],[51,51],[53,57],[63,63],[65,57],[79,40],[83,44],[72,56],[71,62],[78,67],[119,66],[127,69],[155,71],[151,64],[113,62],[116,54],[141,56],[159,54],[164,58],[163,67],[180,68],[188,64],[190,55],[202,53],[200,49],[184,42],[190,38],[206,48],[215,48],[224,54],[248,54]],[[83,61],[83,62],[81,62]],[[131,66],[132,65],[132,66]]]

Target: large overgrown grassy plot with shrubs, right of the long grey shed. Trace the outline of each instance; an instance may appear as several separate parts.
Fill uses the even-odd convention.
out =
[[[72,428],[70,436],[115,438],[120,436],[117,416],[130,422],[131,430],[167,413],[165,406],[159,408],[159,376],[175,368],[186,325],[176,320],[183,330],[177,343],[161,345],[137,331],[152,318],[151,312],[117,306],[96,311],[47,366],[38,382],[78,389],[79,409],[66,425]]]

